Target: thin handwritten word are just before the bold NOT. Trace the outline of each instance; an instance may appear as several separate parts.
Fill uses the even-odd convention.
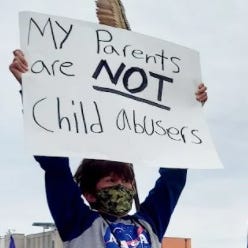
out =
[[[60,62],[58,59],[54,60],[51,65],[47,65],[43,60],[37,60],[31,65],[31,72],[37,74],[45,70],[49,76],[56,76],[57,73],[61,73],[65,76],[72,77],[75,76],[75,74],[66,72],[66,69],[72,66],[72,62]]]

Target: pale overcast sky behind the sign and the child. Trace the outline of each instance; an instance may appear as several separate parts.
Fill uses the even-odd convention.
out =
[[[189,170],[166,232],[197,248],[246,247],[248,232],[248,2],[246,0],[123,0],[133,31],[200,52],[209,100],[206,121],[224,165]],[[19,47],[18,12],[37,11],[97,22],[94,1],[1,1],[0,236],[42,231],[50,222],[43,171],[25,148],[20,86],[8,70]],[[206,158],[207,159],[207,158]],[[75,171],[78,161],[72,160]],[[156,180],[154,168],[135,168],[140,198]],[[149,180],[146,180],[149,175]],[[145,179],[145,180],[144,180]],[[144,184],[144,181],[146,182]]]

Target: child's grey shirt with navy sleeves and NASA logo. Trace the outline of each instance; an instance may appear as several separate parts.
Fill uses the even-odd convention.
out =
[[[45,170],[47,201],[65,247],[160,248],[186,182],[186,169],[160,168],[140,210],[122,218],[100,215],[84,203],[69,159],[36,156]]]

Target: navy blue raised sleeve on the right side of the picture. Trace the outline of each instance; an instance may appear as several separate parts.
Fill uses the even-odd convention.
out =
[[[186,183],[187,170],[160,168],[159,173],[155,187],[141,204],[137,215],[148,221],[162,240]]]

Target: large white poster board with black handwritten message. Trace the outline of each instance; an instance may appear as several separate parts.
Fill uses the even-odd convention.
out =
[[[196,51],[134,32],[20,13],[24,123],[34,154],[221,167],[195,99]]]

